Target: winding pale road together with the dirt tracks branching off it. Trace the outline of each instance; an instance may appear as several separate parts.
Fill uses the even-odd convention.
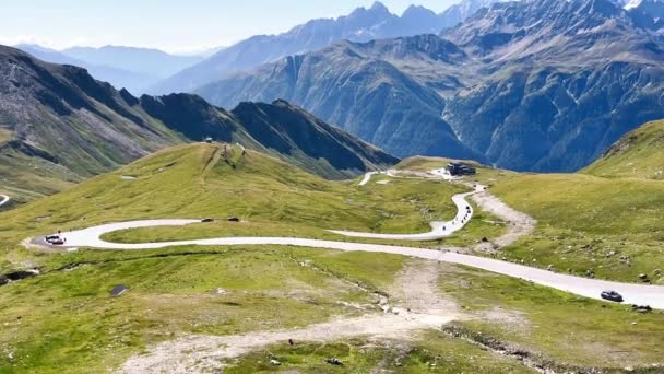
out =
[[[360,182],[360,186],[368,184],[374,175],[369,173]],[[463,227],[472,218],[472,208],[467,210],[466,198],[472,196],[474,201],[484,210],[491,212],[508,223],[508,231],[490,245],[498,247],[509,245],[523,235],[531,233],[536,224],[529,215],[518,212],[489,194],[483,186],[476,187],[473,192],[461,194],[453,197],[458,208],[456,219],[450,224],[432,223],[434,231],[426,234],[414,235],[380,235],[367,236],[367,233],[339,232],[347,236],[380,237],[392,239],[432,239],[449,236],[452,232]],[[7,201],[4,201],[7,202]],[[459,222],[462,218],[463,222]],[[344,252],[369,252],[394,254],[422,258],[426,260],[449,262],[469,266],[491,271],[513,278],[523,279],[533,283],[553,289],[570,292],[580,296],[601,300],[600,294],[605,290],[615,290],[624,295],[625,303],[650,305],[664,309],[664,287],[619,283],[596,279],[572,277],[543,269],[531,268],[523,265],[501,261],[491,258],[463,255],[450,250],[403,247],[393,245],[379,245],[366,243],[347,243],[334,241],[319,241],[294,237],[218,237],[210,239],[178,241],[165,243],[121,244],[108,243],[100,237],[104,234],[129,229],[153,226],[182,226],[200,223],[200,220],[146,220],[104,224],[63,234],[68,247],[90,247],[99,249],[157,249],[173,246],[201,245],[201,246],[236,246],[236,245],[277,245],[299,246],[307,248],[335,249]],[[449,233],[441,233],[440,224],[450,225]],[[446,230],[447,231],[447,230]],[[46,245],[43,239],[33,239],[33,244]],[[482,249],[481,249],[482,250]],[[355,336],[393,337],[403,339],[404,332],[435,328],[450,320],[462,318],[454,305],[437,300],[436,268],[426,271],[427,266],[417,265],[410,272],[403,274],[398,283],[404,288],[403,300],[405,305],[392,307],[386,314],[368,314],[357,318],[334,319],[327,323],[311,325],[293,330],[257,331],[235,336],[188,336],[171,341],[165,341],[152,347],[147,354],[131,357],[121,367],[120,372],[206,372],[211,369],[222,370],[224,360],[236,358],[270,343],[278,343],[287,339],[298,341],[344,339]],[[428,292],[427,290],[428,284]],[[425,291],[423,291],[425,290]]]

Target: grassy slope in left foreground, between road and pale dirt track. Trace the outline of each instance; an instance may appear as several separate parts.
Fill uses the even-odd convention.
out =
[[[372,305],[374,292],[384,292],[403,265],[401,256],[287,247],[51,258],[46,273],[0,289],[0,372],[107,371],[153,343],[188,334],[273,330],[354,316],[358,311],[342,302]],[[129,291],[111,296],[117,284]]]

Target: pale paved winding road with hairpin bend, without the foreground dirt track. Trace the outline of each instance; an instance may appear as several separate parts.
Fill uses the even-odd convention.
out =
[[[370,179],[371,175],[368,176]],[[368,183],[368,179],[366,183]],[[364,182],[364,180],[363,180]],[[366,184],[365,183],[365,184]],[[475,202],[483,209],[506,220],[509,224],[508,233],[497,239],[498,245],[509,245],[517,238],[530,233],[535,221],[527,215],[514,211],[499,199],[494,197],[478,187],[476,191],[455,196],[454,203],[459,208],[458,218],[466,214],[465,198],[473,195]],[[470,220],[470,218],[469,218]],[[394,245],[380,245],[367,243],[348,243],[335,241],[320,241],[310,238],[297,237],[217,237],[209,239],[192,239],[178,242],[162,242],[162,243],[139,243],[123,244],[109,243],[100,237],[104,234],[112,233],[121,230],[140,229],[140,227],[156,227],[156,226],[183,226],[189,224],[200,223],[200,220],[146,220],[146,221],[130,221],[120,223],[110,223],[99,226],[88,227],[79,231],[72,231],[63,234],[67,238],[67,247],[88,247],[98,249],[122,249],[122,250],[141,250],[141,249],[158,249],[174,246],[200,245],[200,246],[237,246],[237,245],[277,245],[277,246],[298,246],[308,248],[335,249],[344,252],[370,252],[382,254],[394,254],[408,256],[414,258],[423,258],[435,261],[444,261],[470,266],[477,269],[488,270],[491,272],[505,274],[508,277],[519,278],[531,281],[536,284],[550,287],[557,290],[570,292],[577,295],[601,300],[601,293],[606,290],[614,290],[622,294],[625,303],[650,305],[652,307],[664,309],[664,287],[636,283],[620,283],[596,279],[588,279],[573,277],[562,273],[557,273],[548,270],[532,268],[529,266],[512,264],[493,258],[463,255],[453,252],[443,252],[437,249],[404,247]],[[467,221],[466,221],[467,222]],[[459,230],[460,227],[456,227]],[[352,234],[352,233],[346,233]],[[365,233],[357,233],[365,236]],[[429,235],[429,236],[427,236]],[[439,237],[440,233],[415,234],[415,235],[399,235],[401,237],[415,237],[418,239],[427,239]],[[351,236],[351,235],[348,235]],[[365,236],[367,237],[367,236]],[[395,236],[376,236],[395,238]],[[33,239],[34,245],[47,245],[43,239]]]

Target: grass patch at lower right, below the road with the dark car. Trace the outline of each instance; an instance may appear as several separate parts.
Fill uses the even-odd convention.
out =
[[[621,370],[662,364],[661,312],[641,314],[627,305],[471,268],[444,269],[440,290],[475,316],[459,323],[467,334],[496,339],[509,350],[525,350],[536,362],[555,362],[560,367]],[[491,313],[515,313],[519,319],[500,323]]]

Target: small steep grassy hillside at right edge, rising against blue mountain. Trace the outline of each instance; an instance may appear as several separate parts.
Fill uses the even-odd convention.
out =
[[[603,177],[664,180],[664,120],[652,121],[622,137],[582,171]]]

